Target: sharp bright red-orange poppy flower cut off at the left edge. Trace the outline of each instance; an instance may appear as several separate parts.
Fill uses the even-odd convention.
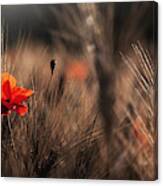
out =
[[[28,112],[24,101],[33,94],[33,91],[16,86],[16,79],[9,73],[2,74],[1,89],[1,113],[8,115],[16,112],[20,116],[24,116]]]

